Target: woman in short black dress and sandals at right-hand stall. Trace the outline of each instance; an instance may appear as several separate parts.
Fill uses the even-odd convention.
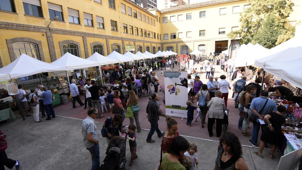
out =
[[[277,112],[268,113],[264,116],[265,122],[268,124],[262,132],[260,137],[259,151],[254,152],[256,156],[263,158],[262,151],[265,147],[265,142],[271,144],[271,153],[269,153],[269,159],[274,158],[277,146],[281,145],[283,139],[283,133],[281,132],[281,126],[285,123],[285,117],[282,113],[286,111],[286,107],[279,105]]]

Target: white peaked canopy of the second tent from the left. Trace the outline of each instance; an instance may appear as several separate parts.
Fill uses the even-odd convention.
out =
[[[56,61],[52,62],[51,64],[60,67],[65,67],[65,70],[76,70],[76,69],[95,67],[100,65],[98,62],[86,60],[84,58],[80,58],[75,55],[72,55],[68,52],[64,54],[62,57],[60,57],[59,59],[57,59]]]

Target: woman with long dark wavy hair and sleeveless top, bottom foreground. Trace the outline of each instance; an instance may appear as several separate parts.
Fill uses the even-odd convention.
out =
[[[219,139],[218,154],[214,170],[248,170],[242,157],[242,146],[232,132],[224,133]]]

